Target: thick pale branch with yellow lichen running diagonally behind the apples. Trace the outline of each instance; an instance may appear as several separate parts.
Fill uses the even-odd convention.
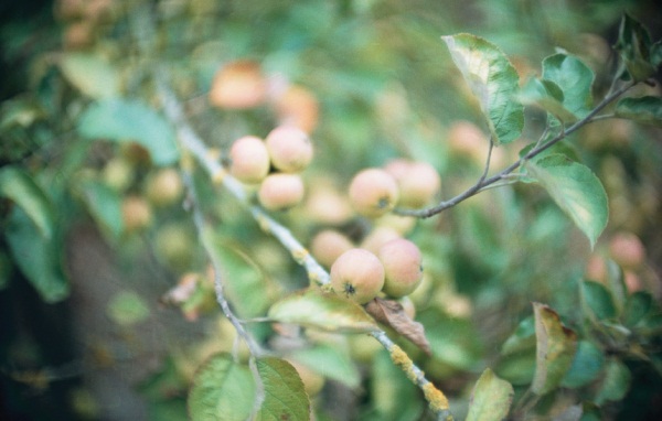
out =
[[[250,215],[255,218],[259,227],[273,235],[291,253],[292,258],[308,271],[308,277],[312,283],[325,285],[331,282],[329,273],[322,268],[308,250],[295,238],[291,231],[271,218],[261,207],[250,203],[242,184],[227,174],[223,165],[215,159],[205,147],[204,142],[197,137],[184,118],[183,110],[174,97],[174,94],[168,88],[162,74],[157,74],[157,89],[161,97],[162,106],[167,117],[174,123],[181,147],[191,152],[201,165],[210,174],[214,183],[227,188],[239,203],[247,207]],[[487,175],[487,172],[485,172]],[[223,290],[221,289],[221,291]],[[222,295],[221,295],[222,296]],[[224,300],[223,300],[224,301]],[[223,304],[222,304],[223,306]],[[239,323],[241,324],[241,323]],[[243,327],[243,326],[242,326]],[[397,364],[409,377],[409,379],[420,388],[430,410],[437,414],[438,420],[452,420],[452,414],[448,407],[448,399],[437,389],[433,382],[425,378],[425,374],[418,368],[407,354],[393,343],[384,331],[377,330],[372,333],[386,350],[395,364]]]

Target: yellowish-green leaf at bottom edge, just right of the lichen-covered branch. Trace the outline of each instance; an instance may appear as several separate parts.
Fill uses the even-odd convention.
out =
[[[467,421],[501,421],[505,419],[513,401],[513,395],[511,384],[496,377],[491,369],[485,369],[471,392]]]

